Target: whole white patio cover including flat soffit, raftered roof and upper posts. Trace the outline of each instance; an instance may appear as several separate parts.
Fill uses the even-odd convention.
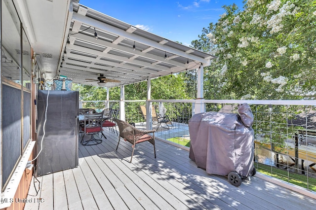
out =
[[[203,98],[203,67],[215,56],[131,26],[79,0],[18,5],[46,80],[64,75],[75,83],[98,86],[101,74],[109,81],[102,86],[120,86],[123,94],[124,85],[147,80],[150,90],[152,78],[197,69],[197,98]]]

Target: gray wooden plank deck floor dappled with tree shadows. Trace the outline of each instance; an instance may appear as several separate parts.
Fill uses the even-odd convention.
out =
[[[96,146],[79,146],[79,166],[38,177],[31,183],[25,210],[315,210],[316,200],[256,176],[239,187],[224,176],[197,168],[189,152],[156,141],[131,144],[106,130]],[[41,199],[41,200],[40,200]]]

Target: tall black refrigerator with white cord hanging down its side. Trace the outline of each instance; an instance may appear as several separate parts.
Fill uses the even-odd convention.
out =
[[[78,166],[79,92],[39,90],[37,109],[36,175]]]

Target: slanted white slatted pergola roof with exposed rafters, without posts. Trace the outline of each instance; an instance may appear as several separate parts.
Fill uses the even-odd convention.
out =
[[[101,73],[120,81],[107,82],[106,87],[126,85],[209,66],[214,58],[76,2],[67,29],[56,73],[76,83],[98,85],[86,79]]]

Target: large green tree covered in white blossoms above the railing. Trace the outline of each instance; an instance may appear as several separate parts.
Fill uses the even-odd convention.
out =
[[[316,1],[244,3],[243,10],[224,6],[218,23],[192,42],[218,56],[211,66],[212,76],[217,72],[221,79],[218,96],[263,100],[315,95]]]

